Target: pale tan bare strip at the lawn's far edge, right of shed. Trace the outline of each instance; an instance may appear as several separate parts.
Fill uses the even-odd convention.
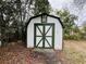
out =
[[[78,52],[86,53],[86,41],[69,40],[64,42],[65,42],[65,47],[75,49]]]

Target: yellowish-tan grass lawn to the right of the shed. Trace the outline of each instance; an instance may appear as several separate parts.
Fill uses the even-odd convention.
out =
[[[65,59],[69,64],[86,64],[86,41],[64,41]]]

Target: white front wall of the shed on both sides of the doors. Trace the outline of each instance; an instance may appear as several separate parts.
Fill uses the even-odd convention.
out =
[[[34,24],[41,23],[41,17],[33,18],[27,26],[27,48],[34,48]],[[48,16],[47,23],[54,23],[54,49],[62,50],[62,25],[59,20]]]

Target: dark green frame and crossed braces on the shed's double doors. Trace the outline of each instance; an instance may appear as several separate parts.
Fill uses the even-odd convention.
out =
[[[42,26],[42,31],[40,30],[40,28],[38,27],[38,26]],[[48,28],[48,30],[46,31],[45,29],[46,29],[46,26],[50,26],[49,28]],[[36,30],[36,27],[38,28],[38,30],[40,30],[40,33],[41,33],[41,36],[37,36],[36,34],[37,34],[37,30]],[[46,36],[47,35],[47,33],[50,30],[50,28],[52,27],[52,36]],[[40,23],[35,23],[34,24],[34,47],[35,48],[54,48],[54,24],[53,23],[47,23],[47,24],[40,24]],[[41,39],[39,40],[39,42],[37,43],[37,41],[36,41],[36,38],[37,37],[41,37]],[[49,41],[47,40],[47,37],[51,37],[51,39],[52,39],[52,42],[51,42],[51,44],[49,43]],[[38,47],[38,44],[40,43],[40,41],[42,40],[42,47]],[[49,47],[45,47],[45,42],[47,41],[47,43],[49,44]],[[37,43],[37,46],[36,46],[36,43]]]

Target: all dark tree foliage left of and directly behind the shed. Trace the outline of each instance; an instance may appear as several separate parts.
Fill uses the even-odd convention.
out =
[[[34,4],[35,2],[35,4]],[[34,8],[32,8],[34,7]],[[34,14],[49,13],[48,0],[0,0],[0,39],[25,39],[25,23]],[[30,11],[33,10],[33,13]]]

